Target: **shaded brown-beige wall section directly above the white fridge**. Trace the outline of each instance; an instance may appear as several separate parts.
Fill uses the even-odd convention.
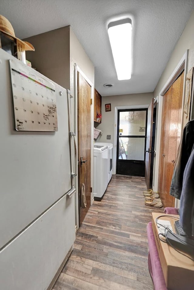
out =
[[[26,59],[46,77],[63,88],[70,89],[69,26],[25,39],[35,52],[26,52]]]

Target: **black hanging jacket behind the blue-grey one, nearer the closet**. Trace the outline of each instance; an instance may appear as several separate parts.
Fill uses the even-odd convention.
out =
[[[175,168],[172,175],[170,195],[180,199],[182,192],[183,173],[194,145],[194,120],[189,121],[182,134],[178,149]]]

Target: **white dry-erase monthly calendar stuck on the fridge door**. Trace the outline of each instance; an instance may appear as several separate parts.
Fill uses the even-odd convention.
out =
[[[55,86],[17,60],[9,64],[15,130],[58,131]]]

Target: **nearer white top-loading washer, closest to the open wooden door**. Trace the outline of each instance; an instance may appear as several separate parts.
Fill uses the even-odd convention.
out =
[[[108,186],[108,157],[109,148],[106,145],[94,144],[94,188],[93,196],[95,200],[101,200]]]

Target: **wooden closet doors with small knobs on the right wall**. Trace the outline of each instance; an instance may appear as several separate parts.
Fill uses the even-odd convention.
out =
[[[184,72],[163,96],[158,191],[164,207],[175,203],[169,192],[180,143],[183,81]]]

